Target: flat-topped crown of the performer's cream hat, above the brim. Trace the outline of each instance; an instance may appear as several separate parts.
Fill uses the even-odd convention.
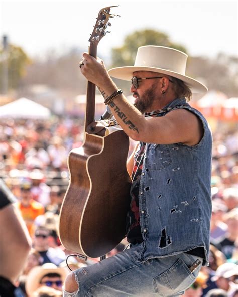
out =
[[[187,54],[163,46],[142,46],[138,48],[136,67],[154,67],[185,75]]]

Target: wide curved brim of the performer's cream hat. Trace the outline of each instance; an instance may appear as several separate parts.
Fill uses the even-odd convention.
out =
[[[190,88],[192,93],[203,94],[207,92],[207,87],[201,82],[193,79],[189,76],[182,75],[180,73],[162,69],[155,67],[146,67],[146,66],[124,66],[124,67],[116,67],[108,70],[108,74],[112,77],[128,80],[130,81],[133,77],[133,73],[136,71],[153,71],[157,73],[167,74],[172,77],[178,78],[186,83],[186,85]]]

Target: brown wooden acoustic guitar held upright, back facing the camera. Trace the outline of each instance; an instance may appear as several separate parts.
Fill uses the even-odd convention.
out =
[[[89,54],[113,17],[111,7],[99,11],[89,39]],[[126,234],[131,177],[126,169],[129,137],[109,121],[95,121],[95,85],[87,82],[84,141],[68,156],[69,186],[60,211],[63,246],[83,256],[101,257]]]

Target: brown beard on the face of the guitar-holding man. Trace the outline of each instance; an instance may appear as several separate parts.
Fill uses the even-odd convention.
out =
[[[153,85],[149,90],[145,91],[145,93],[142,96],[139,96],[137,92],[134,94],[137,95],[136,102],[134,103],[134,106],[141,112],[149,112],[152,107],[152,104],[156,98],[156,87]]]

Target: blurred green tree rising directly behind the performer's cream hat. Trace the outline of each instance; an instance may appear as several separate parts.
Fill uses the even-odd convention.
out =
[[[134,65],[137,49],[144,45],[160,45],[172,47],[186,53],[186,49],[169,40],[167,34],[153,29],[144,29],[129,34],[120,48],[112,49],[112,67]]]

